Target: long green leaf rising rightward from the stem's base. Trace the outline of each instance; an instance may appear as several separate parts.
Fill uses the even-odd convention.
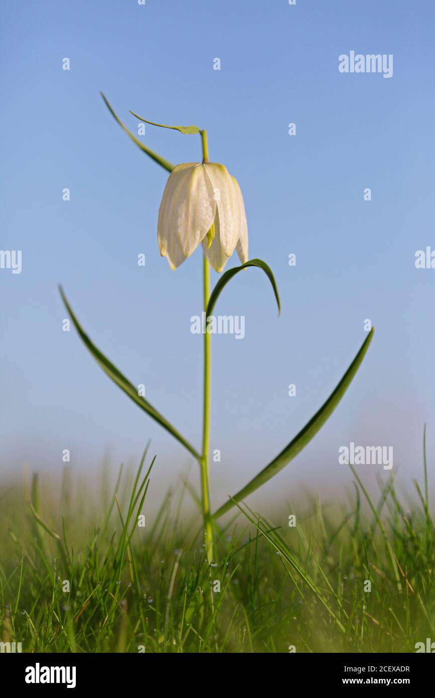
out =
[[[362,343],[360,351],[355,356],[355,359],[353,359],[353,362],[349,366],[343,378],[341,378],[334,392],[330,394],[327,401],[320,407],[320,410],[316,412],[314,417],[311,417],[310,421],[305,424],[304,428],[301,429],[297,436],[290,441],[286,448],[284,448],[281,453],[278,454],[271,463],[269,463],[268,466],[263,468],[263,470],[261,470],[260,473],[258,473],[258,475],[251,480],[251,482],[248,482],[248,484],[237,492],[237,494],[235,494],[231,500],[229,500],[226,504],[223,504],[220,509],[213,514],[214,519],[219,519],[219,517],[221,517],[223,514],[226,514],[226,512],[233,507],[234,501],[239,502],[241,499],[247,497],[249,494],[258,489],[258,487],[261,487],[262,484],[265,484],[265,482],[270,480],[271,477],[277,475],[277,473],[279,473],[279,471],[282,470],[287,463],[290,463],[290,461],[292,461],[293,458],[295,458],[295,456],[302,451],[307,443],[309,443],[311,439],[316,436],[316,433],[321,429],[323,424],[325,424],[327,419],[334,412],[334,409],[337,407],[339,401],[344,396],[344,393],[351,384],[355,373],[360,368],[362,359],[364,359],[371,339],[373,338],[373,333],[374,327],[371,328],[369,335],[364,340],[364,343]]]

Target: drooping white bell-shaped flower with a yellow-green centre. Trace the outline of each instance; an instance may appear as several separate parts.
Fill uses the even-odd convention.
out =
[[[176,269],[200,242],[216,272],[237,248],[248,260],[248,225],[239,183],[225,165],[183,163],[169,175],[158,211],[158,246]]]

